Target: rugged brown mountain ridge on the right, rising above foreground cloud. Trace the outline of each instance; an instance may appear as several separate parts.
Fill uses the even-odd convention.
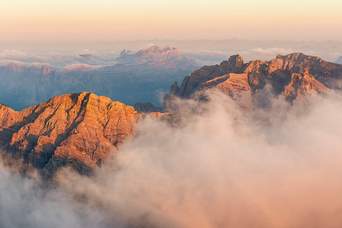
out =
[[[163,111],[172,110],[174,97],[191,98],[197,92],[222,92],[244,109],[275,109],[280,100],[303,103],[309,94],[325,95],[341,90],[342,65],[302,53],[278,55],[271,61],[244,63],[233,55],[220,65],[203,66],[177,82],[163,99]],[[197,94],[198,95],[198,94]],[[137,106],[137,111],[147,107]]]

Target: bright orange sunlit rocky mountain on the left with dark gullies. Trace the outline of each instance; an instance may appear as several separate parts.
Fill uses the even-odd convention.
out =
[[[1,103],[0,146],[43,170],[45,178],[65,165],[90,175],[113,160],[143,116],[162,115],[138,114],[132,106],[89,92],[53,97],[21,112]]]

